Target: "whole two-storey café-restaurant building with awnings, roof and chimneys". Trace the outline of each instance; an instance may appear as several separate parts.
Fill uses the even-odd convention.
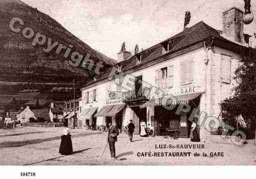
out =
[[[232,95],[234,72],[249,50],[242,19],[231,8],[223,13],[223,31],[201,21],[133,56],[123,44],[115,73],[107,70],[81,89],[78,120],[96,128],[112,120],[119,129],[133,120],[135,134],[146,122],[156,135],[174,129],[185,138],[195,120],[204,138],[199,124],[221,120],[220,103]]]

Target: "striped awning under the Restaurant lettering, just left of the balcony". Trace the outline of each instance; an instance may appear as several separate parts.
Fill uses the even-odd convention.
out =
[[[125,107],[125,104],[116,104],[116,105],[103,106],[103,108],[101,108],[99,110],[99,112],[97,114],[95,114],[95,117],[98,117],[98,116],[103,116],[103,117],[115,116],[117,113],[122,111],[124,107]]]

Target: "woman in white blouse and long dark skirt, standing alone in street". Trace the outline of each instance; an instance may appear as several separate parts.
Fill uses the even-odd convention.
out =
[[[61,143],[59,147],[59,153],[62,155],[70,155],[73,153],[72,140],[70,135],[70,129],[68,128],[67,121],[63,122],[64,129],[61,133]]]

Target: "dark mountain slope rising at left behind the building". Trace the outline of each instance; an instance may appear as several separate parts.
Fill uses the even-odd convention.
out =
[[[56,48],[46,53],[44,45],[32,46],[33,38],[27,39],[22,33],[9,29],[9,22],[13,17],[24,21],[24,27],[30,27],[34,32],[45,34],[52,41],[68,46],[72,50],[86,55],[89,53],[96,64],[103,61],[105,67],[115,63],[102,53],[92,49],[72,33],[67,31],[50,16],[30,7],[20,0],[0,0],[0,81],[12,82],[72,82],[80,80],[85,82],[92,78],[93,72],[86,66],[77,68],[70,66],[63,54],[57,54]]]

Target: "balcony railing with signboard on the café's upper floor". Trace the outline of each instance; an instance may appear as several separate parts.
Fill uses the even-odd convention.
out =
[[[141,100],[141,99],[149,99],[150,98],[150,88],[142,88],[137,93],[135,90],[126,91],[126,92],[116,92],[116,91],[109,91],[108,93],[110,100],[117,100],[120,99],[123,102],[125,101],[133,101],[133,100]]]

